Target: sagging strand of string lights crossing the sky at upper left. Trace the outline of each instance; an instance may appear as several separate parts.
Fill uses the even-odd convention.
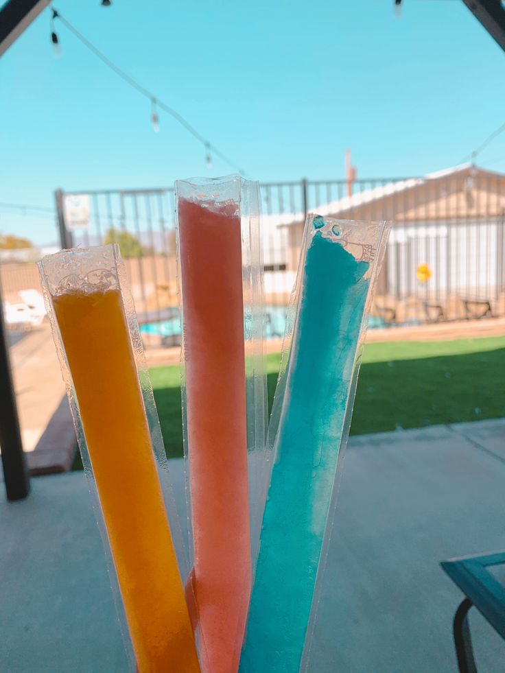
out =
[[[69,31],[76,38],[78,38],[78,40],[87,49],[89,49],[89,51],[92,51],[93,54],[95,54],[95,56],[97,56],[97,58],[99,58],[102,61],[102,63],[106,64],[106,66],[108,68],[110,68],[112,71],[114,71],[116,73],[116,75],[118,75],[122,80],[124,80],[124,82],[129,84],[138,93],[140,93],[145,98],[148,98],[151,101],[151,104],[152,104],[151,121],[152,121],[152,126],[153,126],[155,131],[157,131],[158,128],[159,128],[158,110],[163,110],[163,112],[167,113],[167,115],[170,115],[171,117],[176,119],[176,121],[178,121],[178,123],[180,123],[181,126],[184,126],[184,128],[187,130],[187,132],[191,133],[193,138],[195,138],[200,143],[202,143],[202,145],[204,145],[205,150],[206,150],[205,158],[206,158],[206,161],[207,161],[207,165],[209,165],[209,163],[212,163],[212,158],[211,158],[211,152],[212,152],[212,154],[214,154],[215,156],[218,156],[220,159],[222,159],[222,161],[224,161],[224,163],[227,163],[228,166],[235,169],[239,174],[244,175],[245,172],[244,172],[244,169],[242,169],[242,167],[237,165],[237,163],[235,163],[234,161],[231,160],[231,158],[226,156],[226,154],[224,154],[224,152],[221,152],[221,150],[218,147],[216,147],[215,145],[213,145],[213,143],[211,143],[209,140],[207,140],[207,138],[204,137],[198,130],[196,130],[196,128],[191,123],[189,123],[189,121],[187,121],[187,119],[185,119],[185,117],[183,117],[183,115],[180,115],[180,113],[178,113],[177,110],[174,110],[174,108],[170,107],[165,102],[163,102],[161,99],[159,99],[157,96],[155,96],[151,91],[149,91],[147,88],[145,88],[145,86],[143,86],[140,82],[138,82],[137,80],[134,80],[134,78],[130,77],[130,75],[128,75],[128,73],[126,73],[124,70],[121,70],[121,68],[119,68],[113,61],[110,60],[110,58],[108,58],[102,51],[97,49],[97,47],[95,47],[95,45],[93,45],[87,38],[85,38],[84,35],[82,33],[80,33],[77,28],[75,28],[75,26],[73,26],[69,21],[67,21],[67,19],[65,19],[64,16],[62,16],[60,14],[60,12],[57,12],[54,9],[52,10],[52,12],[53,12],[53,15],[52,15],[51,22],[52,22],[53,19],[57,18],[67,29],[69,29]],[[53,29],[53,33],[56,36],[56,42],[54,41],[54,38],[53,38],[52,35],[51,35],[51,40],[53,40],[54,44],[58,44],[58,36],[56,35],[56,32],[54,32],[54,29]]]

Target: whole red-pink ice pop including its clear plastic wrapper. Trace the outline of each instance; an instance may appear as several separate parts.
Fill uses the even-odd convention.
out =
[[[204,672],[235,673],[268,477],[259,189],[228,176],[176,192],[192,613]]]

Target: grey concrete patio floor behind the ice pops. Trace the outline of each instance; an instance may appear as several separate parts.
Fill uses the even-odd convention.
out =
[[[351,438],[311,672],[455,673],[461,595],[438,563],[505,547],[504,484],[505,419]],[[128,670],[83,473],[1,501],[0,536],[0,671]],[[505,644],[471,624],[479,670],[503,672]]]

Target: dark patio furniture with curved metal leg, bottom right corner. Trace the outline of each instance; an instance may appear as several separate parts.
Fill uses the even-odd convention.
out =
[[[472,606],[505,639],[505,587],[489,571],[489,568],[498,565],[505,565],[505,552],[462,556],[441,563],[443,570],[465,594],[453,622],[460,673],[477,673],[468,623],[468,612]]]

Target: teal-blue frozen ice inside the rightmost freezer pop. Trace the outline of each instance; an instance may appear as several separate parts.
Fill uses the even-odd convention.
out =
[[[336,233],[338,235],[338,232]],[[368,263],[316,231],[307,250],[263,515],[242,673],[297,673],[316,582]]]

